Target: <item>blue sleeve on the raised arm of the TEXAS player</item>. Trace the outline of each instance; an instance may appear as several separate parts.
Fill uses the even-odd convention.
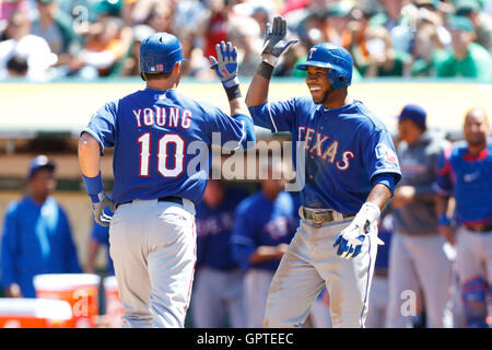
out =
[[[295,98],[281,102],[266,102],[261,105],[249,107],[255,125],[270,129],[271,132],[292,131],[295,110]]]

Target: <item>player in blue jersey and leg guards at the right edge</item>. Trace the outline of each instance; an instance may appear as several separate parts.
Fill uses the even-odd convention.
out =
[[[492,292],[492,140],[484,109],[472,108],[466,114],[464,136],[465,142],[455,143],[440,161],[435,184],[440,232],[456,248],[466,326],[488,327],[487,301]],[[453,218],[447,215],[449,197],[456,202]]]

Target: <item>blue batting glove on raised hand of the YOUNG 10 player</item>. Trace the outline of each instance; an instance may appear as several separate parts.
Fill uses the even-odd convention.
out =
[[[215,45],[216,59],[210,56],[210,68],[214,69],[224,89],[239,85],[237,78],[237,48],[230,42]]]

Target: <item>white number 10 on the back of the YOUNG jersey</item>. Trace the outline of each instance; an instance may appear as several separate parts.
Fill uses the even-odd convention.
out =
[[[157,152],[151,150],[151,132],[142,133],[137,139],[140,143],[140,177],[150,176],[151,156],[157,155],[157,172],[163,177],[177,177],[183,173],[185,160],[185,140],[177,133],[165,133],[157,142]],[[169,145],[174,145],[174,153],[169,154]],[[168,156],[173,156],[174,166],[168,166]]]

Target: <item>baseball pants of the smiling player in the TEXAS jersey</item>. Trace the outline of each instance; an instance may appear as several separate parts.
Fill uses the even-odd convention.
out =
[[[273,277],[265,327],[301,326],[325,285],[330,295],[333,328],[364,327],[377,243],[374,235],[367,235],[359,256],[338,256],[335,240],[351,220],[320,228],[301,220]]]

